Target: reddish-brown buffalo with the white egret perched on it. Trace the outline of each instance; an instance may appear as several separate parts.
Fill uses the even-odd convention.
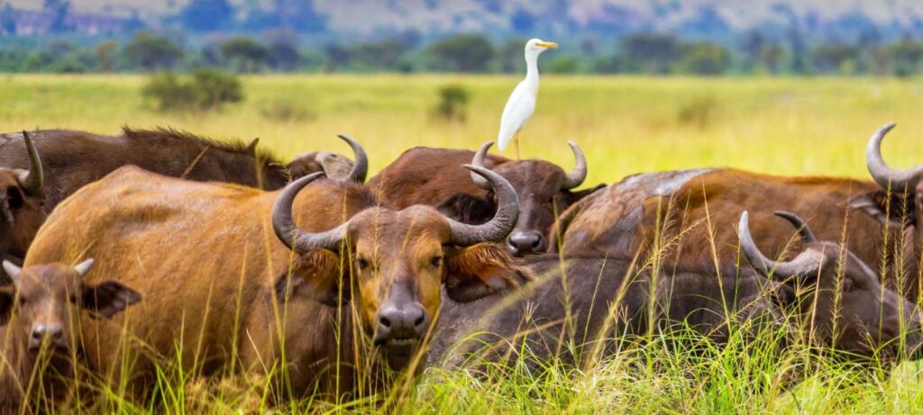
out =
[[[515,255],[545,252],[546,232],[557,214],[592,194],[602,185],[572,192],[586,179],[587,164],[581,148],[568,142],[577,166],[571,172],[545,160],[509,160],[488,155],[494,143],[487,142],[476,153],[461,149],[412,148],[369,180],[368,185],[398,207],[438,207],[452,219],[483,223],[497,208],[484,179],[461,167],[471,160],[509,180],[520,198],[521,214],[507,243]]]

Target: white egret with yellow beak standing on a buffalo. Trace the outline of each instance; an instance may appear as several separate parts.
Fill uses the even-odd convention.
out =
[[[500,117],[500,132],[497,144],[500,150],[507,148],[509,141],[516,139],[516,157],[519,158],[519,132],[535,111],[535,97],[538,95],[538,55],[548,49],[557,49],[557,43],[532,39],[525,43],[525,79],[509,95],[507,106]]]

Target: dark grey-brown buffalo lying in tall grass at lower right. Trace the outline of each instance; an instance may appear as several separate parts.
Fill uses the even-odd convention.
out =
[[[819,242],[795,215],[778,215],[799,228],[805,248],[791,261],[767,258],[744,212],[740,247],[752,268],[724,267],[720,275],[705,264],[652,274],[617,257],[530,258],[536,280],[519,290],[443,304],[429,362],[458,365],[472,353],[500,360],[523,350],[528,362],[595,362],[618,344],[632,343],[627,336],[657,327],[691,328],[725,343],[729,322],[751,334],[770,328],[793,343],[833,347],[850,359],[914,356],[923,343],[914,304],[883,288],[875,272],[839,243]]]

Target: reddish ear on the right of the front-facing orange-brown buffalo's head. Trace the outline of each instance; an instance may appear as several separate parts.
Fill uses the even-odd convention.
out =
[[[532,280],[532,271],[499,243],[448,248],[446,293],[456,302],[472,302]]]

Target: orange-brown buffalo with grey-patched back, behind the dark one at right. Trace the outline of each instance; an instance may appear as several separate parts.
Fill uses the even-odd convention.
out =
[[[901,229],[876,219],[881,215],[866,214],[880,206],[871,200],[891,200],[881,193],[878,184],[847,178],[779,177],[734,169],[641,173],[570,207],[551,233],[557,237],[555,248],[567,255],[637,254],[667,270],[714,263],[715,257],[734,264],[733,224],[745,209],[757,243],[770,257],[803,248],[772,223],[774,210],[788,209],[807,219],[821,239],[844,241],[885,276],[885,285],[916,302],[918,254],[903,254],[912,241]]]

